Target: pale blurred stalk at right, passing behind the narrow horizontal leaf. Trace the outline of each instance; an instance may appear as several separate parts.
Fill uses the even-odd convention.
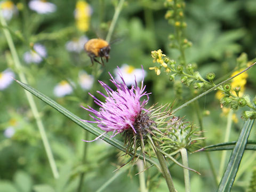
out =
[[[229,140],[230,131],[231,131],[231,125],[232,125],[232,115],[233,115],[233,110],[230,110],[229,114],[228,114],[228,122],[227,122],[224,142],[228,142],[228,140]],[[221,154],[218,182],[220,182],[222,174],[223,174],[223,171],[224,171],[225,162],[226,162],[226,156],[227,156],[227,150],[223,150],[222,154]]]

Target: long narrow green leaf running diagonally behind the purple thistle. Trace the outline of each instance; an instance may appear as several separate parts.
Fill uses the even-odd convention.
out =
[[[35,90],[33,87],[31,87],[31,86],[29,86],[29,85],[27,85],[25,83],[22,83],[22,82],[20,82],[18,80],[15,80],[15,81],[20,86],[22,86],[25,90],[29,91],[30,93],[35,95],[37,98],[41,99],[42,101],[46,102],[48,105],[53,107],[54,109],[58,110],[61,114],[65,115],[71,121],[73,121],[77,125],[81,126],[84,130],[89,131],[90,133],[96,135],[97,137],[103,133],[102,130],[95,128],[94,126],[92,126],[89,123],[81,121],[82,118],[80,118],[80,117],[76,116],[75,114],[71,113],[69,110],[67,110],[66,108],[62,107],[57,102],[53,101],[52,99],[50,99],[49,97],[47,97],[43,93]],[[122,141],[119,141],[119,140],[117,140],[115,138],[110,138],[110,136],[108,134],[105,134],[105,137],[103,137],[102,140],[108,142],[110,145],[116,147],[117,149],[126,152],[126,148],[125,148],[124,143]],[[137,156],[139,155],[139,152],[140,151],[137,152]],[[132,155],[132,153],[131,153],[131,155]],[[140,156],[140,158],[143,159],[142,156]],[[145,159],[149,163],[153,163],[153,164],[157,165],[157,163],[155,161],[153,161],[151,158],[149,158],[148,156],[145,156]]]

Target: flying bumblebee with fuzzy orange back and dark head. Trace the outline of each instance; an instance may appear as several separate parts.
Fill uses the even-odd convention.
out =
[[[108,62],[110,45],[107,41],[101,38],[90,39],[85,43],[84,49],[87,52],[88,56],[90,57],[92,65],[93,65],[93,61],[95,61],[100,63],[102,66],[104,66],[104,61],[102,58],[105,58],[106,61]],[[96,59],[97,57],[100,57],[101,62]]]

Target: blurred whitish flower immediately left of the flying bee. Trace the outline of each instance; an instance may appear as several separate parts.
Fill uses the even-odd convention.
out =
[[[84,44],[88,41],[88,37],[81,36],[80,38],[74,38],[66,43],[66,49],[70,52],[81,52],[84,49]]]

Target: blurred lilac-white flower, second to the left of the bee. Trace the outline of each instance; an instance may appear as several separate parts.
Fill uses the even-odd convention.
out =
[[[23,58],[26,63],[40,63],[43,61],[43,58],[47,56],[45,46],[36,43],[33,46],[34,50],[27,51],[24,53]]]

